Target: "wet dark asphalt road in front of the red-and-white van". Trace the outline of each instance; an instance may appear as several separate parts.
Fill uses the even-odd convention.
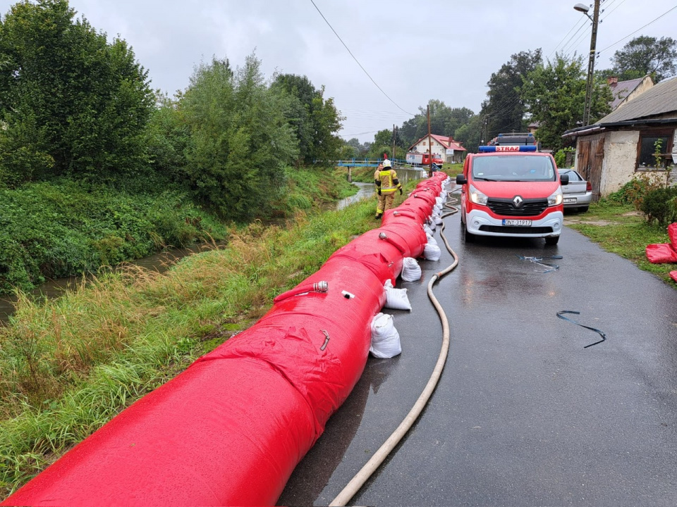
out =
[[[677,290],[565,229],[464,244],[434,289],[451,326],[444,373],[421,418],[350,505],[676,506]],[[439,227],[435,232],[439,239]],[[437,361],[441,324],[426,286],[450,265],[420,261],[395,316],[403,353],[370,358],[279,505],[327,505],[398,426]],[[545,273],[519,256],[545,260]],[[606,333],[561,320],[569,318]]]

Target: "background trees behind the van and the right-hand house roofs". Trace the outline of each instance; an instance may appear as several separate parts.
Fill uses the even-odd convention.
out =
[[[611,112],[607,77],[622,81],[649,75],[657,83],[675,75],[677,41],[642,35],[616,51],[611,61],[611,68],[594,73],[590,123]],[[543,58],[541,49],[521,51],[489,77],[487,99],[479,113],[430,100],[430,130],[453,137],[468,151],[477,151],[477,146],[499,132],[525,132],[534,123],[542,146],[556,151],[565,147],[561,134],[583,123],[586,81],[587,61],[583,56],[555,54],[549,60]],[[390,129],[377,132],[374,142],[360,144],[358,139],[350,139],[343,146],[343,158],[378,158],[384,152],[391,153],[394,141],[393,156],[405,158],[408,147],[428,132],[427,110],[420,107],[419,111],[396,133]]]

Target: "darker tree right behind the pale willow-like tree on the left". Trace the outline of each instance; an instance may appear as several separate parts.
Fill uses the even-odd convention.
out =
[[[286,116],[298,137],[300,161],[310,164],[338,158],[343,140],[336,132],[341,130],[343,117],[334,99],[324,99],[324,87],[315,89],[306,76],[294,74],[277,75],[274,86],[295,99]]]

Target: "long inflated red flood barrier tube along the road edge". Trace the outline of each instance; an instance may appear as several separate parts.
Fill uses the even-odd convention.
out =
[[[0,505],[274,505],[362,375],[384,282],[425,247],[420,217],[391,215]]]

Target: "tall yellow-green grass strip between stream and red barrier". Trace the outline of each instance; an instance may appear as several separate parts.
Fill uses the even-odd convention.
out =
[[[226,246],[163,274],[129,267],[59,299],[20,296],[0,327],[0,496],[250,326],[276,294],[377,225],[373,211],[372,199],[301,211],[286,227],[232,229]]]

